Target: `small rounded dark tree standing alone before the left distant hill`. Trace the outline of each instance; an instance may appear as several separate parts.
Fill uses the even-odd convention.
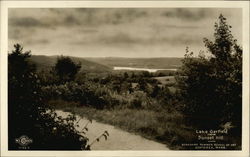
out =
[[[61,56],[57,59],[55,72],[62,81],[72,81],[81,69],[81,64],[74,63],[71,58]]]

